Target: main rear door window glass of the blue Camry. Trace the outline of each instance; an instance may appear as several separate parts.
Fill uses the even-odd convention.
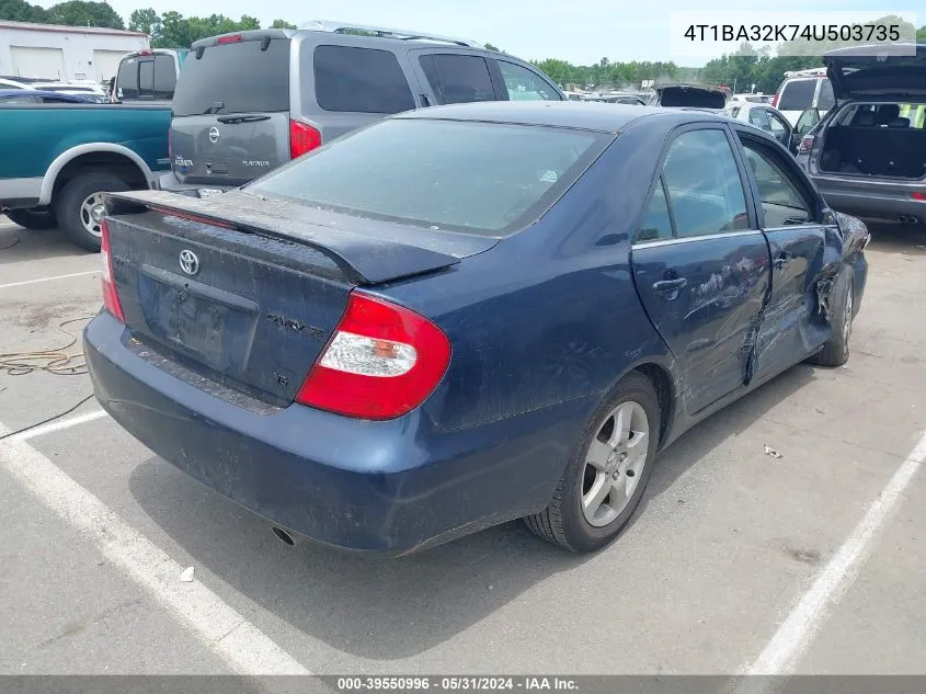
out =
[[[743,182],[723,130],[679,135],[666,153],[663,177],[677,236],[750,228]]]

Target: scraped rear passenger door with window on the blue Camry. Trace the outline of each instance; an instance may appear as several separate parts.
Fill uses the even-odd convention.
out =
[[[769,285],[765,236],[721,126],[668,146],[631,250],[637,291],[681,365],[688,414],[743,388]]]

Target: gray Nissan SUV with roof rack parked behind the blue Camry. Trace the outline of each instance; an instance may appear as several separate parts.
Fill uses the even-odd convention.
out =
[[[389,114],[435,104],[565,99],[542,72],[459,38],[311,22],[193,44],[173,98],[161,190],[241,186]]]

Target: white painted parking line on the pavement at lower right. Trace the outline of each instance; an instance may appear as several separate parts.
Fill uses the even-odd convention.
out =
[[[813,640],[828,608],[853,584],[858,568],[865,561],[868,546],[876,533],[890,517],[904,489],[926,459],[926,433],[910,456],[891,477],[880,496],[868,508],[861,522],[839,547],[810,590],[804,593],[758,658],[745,670],[746,674],[791,674],[807,647]],[[768,683],[767,680],[759,682]],[[755,683],[753,683],[755,684]],[[757,691],[756,687],[748,687]],[[761,690],[759,690],[761,691]]]

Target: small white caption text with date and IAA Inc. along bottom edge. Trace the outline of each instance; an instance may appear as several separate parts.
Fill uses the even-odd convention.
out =
[[[339,692],[576,692],[575,680],[557,676],[342,676]]]

